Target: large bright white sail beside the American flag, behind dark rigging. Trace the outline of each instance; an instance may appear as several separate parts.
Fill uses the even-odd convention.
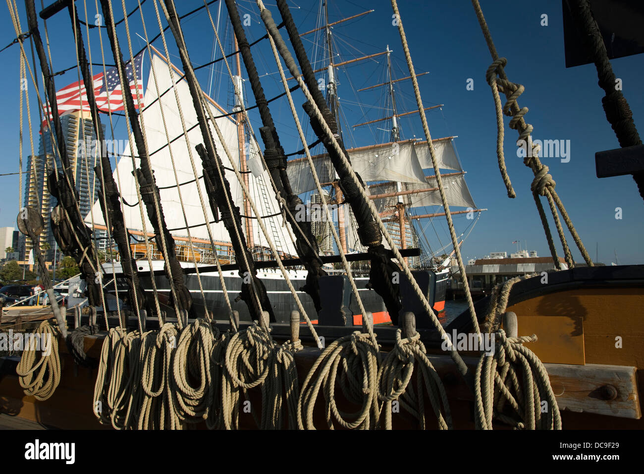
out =
[[[202,164],[201,159],[195,150],[195,146],[199,143],[203,143],[203,138],[200,128],[197,126],[196,112],[194,110],[188,84],[185,79],[176,84],[178,102],[181,104],[181,112],[184,116],[185,126],[189,130],[186,137],[183,135],[175,92],[171,89],[173,81],[169,72],[168,63],[165,59],[162,59],[155,54],[152,55],[152,61],[156,73],[156,86],[155,75],[150,74],[144,97],[144,104],[146,104],[146,106],[144,107],[141,115],[146,134],[147,149],[150,153],[151,165],[155,172],[156,185],[159,188],[162,188],[160,189],[160,195],[167,227],[171,229],[171,233],[173,233],[173,235],[187,237],[187,221],[187,226],[190,227],[191,237],[208,240],[209,235],[206,226],[209,225],[214,241],[230,242],[231,238],[225,230],[223,222],[220,221],[213,223],[214,219],[207,201],[207,193],[205,191],[203,179],[195,180],[195,173],[193,172],[193,166],[190,161],[188,146],[190,146],[192,150],[196,176],[201,178],[203,174]],[[174,78],[176,81],[181,77],[182,73],[173,64],[170,65],[174,69]],[[158,92],[162,94],[162,97],[160,100],[155,101],[155,99],[158,98],[157,87]],[[169,92],[166,92],[168,89],[170,89]],[[164,94],[164,92],[166,93]],[[207,98],[207,104],[211,108],[215,117],[222,115],[222,113],[225,114],[225,111],[209,98]],[[161,114],[161,110],[163,110],[164,115]],[[168,135],[166,135],[164,130],[164,121],[167,126],[167,133],[171,140],[169,145],[167,144]],[[236,162],[237,166],[239,166],[239,146],[236,121],[234,121],[232,117],[221,117],[216,119],[216,122],[222,132],[227,148],[231,153],[231,159]],[[192,130],[190,130],[191,128]],[[212,125],[211,133],[214,139],[214,145],[222,159],[223,165],[231,168],[229,160],[223,150],[223,146],[218,140],[218,136]],[[134,139],[133,137],[130,137],[128,146],[126,146],[123,156],[118,161],[117,170],[113,172],[113,175],[115,181],[117,181],[117,186],[122,198],[124,201],[128,202],[128,204],[133,205],[124,206],[126,225],[132,230],[144,230],[139,206],[135,205],[138,204],[138,199],[135,180],[132,174],[133,159],[131,158],[131,148],[135,151],[135,155],[137,153],[136,147],[133,146],[133,143]],[[252,151],[256,149],[256,144],[251,145],[249,148],[252,153]],[[170,150],[172,151],[174,166],[171,162]],[[140,166],[139,159],[135,158],[134,161],[135,166],[138,168]],[[234,204],[240,206],[243,214],[242,187],[240,186],[234,172],[226,170],[225,177],[230,184]],[[272,198],[272,200],[274,200],[274,193],[270,188],[270,181],[267,176],[267,172],[263,172],[261,178],[263,178],[263,182],[268,186],[267,194]],[[179,198],[179,190],[178,186],[176,186],[177,183],[187,183],[180,186],[183,207]],[[201,189],[202,196],[204,197],[206,208],[205,216],[199,198],[198,186]],[[255,190],[257,186],[258,183],[256,183],[256,178],[249,175],[249,188],[251,188],[251,190]],[[259,192],[254,192],[254,194],[257,195]],[[270,207],[270,200],[269,202],[264,202],[264,200],[258,201],[256,197],[254,197],[254,199],[256,200],[255,202],[261,215],[268,215],[275,212],[274,207]],[[225,206],[225,203],[220,203],[220,206]],[[147,212],[145,209],[143,214],[147,232],[153,232],[153,226],[147,218]],[[95,224],[104,225],[102,213],[100,211],[100,203],[98,201],[94,204],[93,216]],[[270,219],[280,218],[274,217],[264,220],[269,230],[271,228]],[[86,217],[86,222],[91,224],[90,215]],[[208,222],[210,222],[210,224],[207,224]],[[275,222],[275,224],[280,226],[281,220]],[[256,222],[254,222],[254,227],[258,228]],[[255,237],[258,236],[256,235]],[[266,239],[263,235],[261,235],[259,240],[256,238],[255,243],[267,246]],[[285,239],[281,247],[282,248],[280,250],[292,255],[295,254],[294,246],[290,242],[290,239]]]

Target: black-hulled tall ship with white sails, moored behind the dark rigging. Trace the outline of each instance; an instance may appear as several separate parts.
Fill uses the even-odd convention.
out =
[[[321,26],[303,33],[302,36],[310,40],[313,52],[317,52],[316,55],[312,55],[313,63],[319,65],[314,70],[316,80],[319,83],[319,89],[325,94],[328,108],[332,111],[338,124],[339,134],[345,142],[355,143],[351,128],[377,127],[374,130],[376,133],[373,135],[381,136],[383,143],[355,146],[346,151],[355,172],[366,182],[370,199],[374,202],[395,244],[401,250],[415,250],[414,255],[408,257],[410,266],[417,270],[431,272],[431,288],[428,288],[428,295],[433,301],[433,309],[441,313],[444,311],[446,289],[450,281],[450,259],[448,257],[446,260],[445,256],[440,259],[442,253],[435,253],[432,250],[430,241],[435,239],[429,235],[428,228],[430,225],[433,226],[431,220],[444,216],[444,212],[437,212],[437,207],[439,211],[442,208],[442,201],[435,175],[433,175],[427,142],[408,137],[404,132],[406,123],[411,124],[411,121],[418,119],[417,111],[399,111],[397,108],[397,88],[408,83],[409,77],[395,77],[393,74],[392,51],[388,45],[384,52],[335,62],[335,58],[339,54],[335,49],[336,40],[332,35],[332,28],[337,28],[347,20],[369,13],[364,12],[337,21],[330,21],[328,5],[325,1],[321,1],[319,3],[319,17],[316,21],[316,25]],[[222,19],[218,17],[218,21],[222,21]],[[230,32],[228,36],[227,43],[237,50],[234,34]],[[222,37],[222,41],[225,39]],[[215,60],[218,56],[216,45],[214,45],[213,53],[213,60]],[[142,100],[142,128],[144,128],[149,147],[156,185],[160,190],[168,232],[176,242],[177,259],[181,265],[184,268],[193,268],[191,270],[193,272],[196,272],[195,266],[202,267],[199,277],[196,277],[196,273],[191,273],[186,276],[185,281],[186,287],[193,295],[194,302],[199,308],[197,311],[203,311],[205,305],[207,310],[219,313],[225,309],[226,303],[223,299],[220,275],[218,272],[213,272],[216,270],[214,261],[216,259],[224,266],[231,266],[238,261],[239,256],[234,252],[229,231],[223,221],[217,221],[209,208],[204,213],[200,202],[200,197],[206,196],[207,190],[203,179],[202,165],[196,159],[196,153],[192,152],[193,156],[191,157],[189,151],[190,144],[197,143],[201,134],[197,126],[196,114],[191,111],[193,99],[187,82],[185,80],[177,81],[177,78],[182,76],[182,72],[162,52],[154,46],[149,46],[141,54],[146,57],[146,60],[141,59],[142,64],[148,66],[144,68],[148,71],[148,79]],[[368,90],[375,90],[376,94],[384,98],[383,104],[377,108],[377,112],[384,112],[386,115],[366,123],[350,124],[346,121],[347,116],[343,111],[343,101],[339,99],[341,89],[337,77],[342,72],[349,78],[350,71],[344,69],[346,66],[355,66],[361,61],[374,61],[375,58],[382,60],[377,66],[384,66],[386,81],[372,84],[372,86],[367,86],[356,92],[361,94]],[[247,115],[241,112],[242,107],[248,105],[246,100],[248,87],[245,86],[248,80],[242,77],[241,59],[237,57],[236,61],[232,61],[231,66],[234,69],[234,75],[231,79],[224,77],[223,82],[229,84],[229,96],[234,97],[232,110],[223,108],[205,95],[207,106],[215,117],[219,117],[216,120],[222,130],[226,146],[232,153],[232,157],[237,160],[240,173],[244,176],[244,183],[248,187],[253,201],[258,204],[261,220],[269,230],[279,255],[285,259],[296,259],[298,252],[292,229],[287,228],[289,224],[285,222],[285,213],[280,211],[279,204],[275,201],[270,173],[261,164],[260,145],[254,129],[247,121]],[[225,71],[222,72],[225,73]],[[350,83],[350,79],[347,83]],[[159,96],[161,97],[159,98]],[[439,107],[431,106],[427,110]],[[184,110],[186,112],[183,114],[183,119],[187,133],[182,132],[180,111]],[[380,125],[386,128],[383,129]],[[384,130],[385,133],[382,133],[381,130]],[[411,127],[410,130],[412,130]],[[309,143],[319,142],[314,135],[307,137],[307,139]],[[467,214],[468,219],[462,219],[462,221],[467,222],[467,230],[469,230],[477,222],[478,213],[481,210],[476,207],[469,193],[464,179],[465,172],[455,150],[454,139],[455,137],[439,138],[435,139],[433,144],[439,153],[439,166],[442,170],[446,170],[443,175],[446,181],[448,180],[448,185],[445,188],[448,202],[451,206],[459,209],[452,213]],[[168,145],[168,143],[170,144]],[[151,284],[146,280],[150,268],[147,257],[151,256],[153,272],[162,273],[165,262],[152,239],[154,233],[147,232],[147,237],[150,239],[147,247],[143,239],[144,228],[151,230],[153,224],[149,221],[146,212],[141,212],[142,202],[138,198],[136,180],[133,176],[133,166],[138,168],[140,163],[136,157],[134,160],[132,159],[133,154],[136,154],[131,151],[132,144],[133,138],[131,137],[125,149],[122,150],[122,155],[115,156],[118,164],[117,169],[113,172],[113,177],[124,202],[123,212],[129,235],[133,241],[131,242],[133,257],[137,261],[138,271],[141,272],[144,279],[144,286],[148,288],[147,292],[152,294]],[[220,147],[221,144],[216,141],[215,146]],[[352,262],[352,270],[358,291],[361,291],[365,310],[374,315],[376,323],[390,322],[390,315],[383,298],[377,291],[368,287],[370,266],[365,257],[367,247],[360,242],[355,215],[343,198],[339,178],[328,153],[323,152],[323,148],[321,143],[311,147],[311,152],[314,153],[312,160],[323,189],[323,195],[319,195],[316,191],[316,184],[308,169],[307,157],[301,156],[303,150],[300,150],[300,153],[288,153],[290,156],[286,171],[292,193],[298,195],[303,201],[294,217],[310,222],[318,253],[323,257],[323,260],[324,257],[330,257],[329,260],[332,260],[333,256],[337,256],[338,253],[330,226],[336,228],[343,253],[356,257],[363,255],[361,260]],[[236,180],[231,168],[226,170],[226,178],[229,182],[232,201],[241,211],[242,231],[247,247],[252,259],[261,266],[260,262],[272,259],[269,243],[261,232],[258,219],[252,214],[249,200],[245,199],[242,186]],[[97,199],[91,213],[86,215],[85,222],[92,228],[105,230],[101,206],[100,199]],[[332,212],[333,220],[331,222],[328,221],[322,206],[326,206]],[[462,210],[462,208],[466,210]],[[146,222],[144,223],[142,220]],[[436,242],[433,248],[437,249]],[[110,248],[109,255],[114,255],[115,261],[103,265],[108,279],[111,273],[118,275],[120,272],[118,252],[114,245]],[[261,268],[258,272],[258,278],[266,287],[272,305],[272,317],[274,316],[275,321],[287,322],[290,311],[297,308],[279,269],[276,268],[276,265],[270,267],[268,262],[266,264],[266,268]],[[337,258],[335,263],[325,264],[323,268],[328,274],[344,273],[343,270],[337,270],[337,268],[341,268]],[[307,284],[307,271],[299,265],[290,266],[289,272],[294,287],[303,291],[301,288]],[[227,288],[237,289],[241,286],[243,275],[240,275],[240,271],[232,270],[224,272],[223,278]],[[169,301],[170,288],[162,276],[156,279],[156,291],[160,293],[166,303]],[[126,294],[126,285],[122,284],[119,295]],[[321,309],[319,305],[316,307],[315,302],[306,295],[303,295],[303,304],[307,313],[310,314],[316,314]],[[238,300],[232,302],[232,306],[234,310],[240,312],[242,320],[249,321],[251,319],[251,313],[245,302]],[[171,305],[166,305],[166,309],[171,310]],[[347,324],[359,324],[361,317],[361,311],[355,299],[352,299],[347,306]]]

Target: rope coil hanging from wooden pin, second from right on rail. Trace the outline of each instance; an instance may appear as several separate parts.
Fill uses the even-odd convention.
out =
[[[378,398],[384,402],[384,428],[392,429],[392,402],[398,400],[401,407],[418,420],[421,430],[426,429],[424,394],[430,397],[431,408],[436,415],[440,430],[451,430],[450,405],[442,380],[431,365],[427,351],[416,331],[413,313],[401,317],[403,330],[396,331],[393,350],[383,360],[378,370]],[[416,370],[416,391],[412,374]],[[442,404],[442,407],[441,407]]]

